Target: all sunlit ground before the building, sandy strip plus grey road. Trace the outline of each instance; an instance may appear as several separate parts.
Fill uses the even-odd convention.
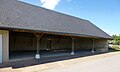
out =
[[[0,68],[0,72],[120,72],[120,52],[75,57],[21,68],[5,67]]]

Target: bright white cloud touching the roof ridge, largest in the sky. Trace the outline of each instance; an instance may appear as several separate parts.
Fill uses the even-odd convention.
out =
[[[60,0],[40,0],[42,7],[54,10],[55,7],[59,4]]]

